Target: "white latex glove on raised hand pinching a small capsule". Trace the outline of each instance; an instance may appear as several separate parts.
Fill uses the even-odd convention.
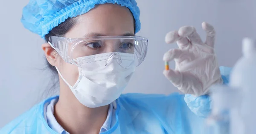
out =
[[[166,43],[177,42],[179,48],[163,56],[164,61],[175,60],[175,70],[163,71],[166,78],[183,93],[195,96],[207,94],[212,84],[223,83],[213,48],[215,30],[206,22],[202,23],[202,28],[207,33],[206,42],[202,42],[191,26],[167,33]]]

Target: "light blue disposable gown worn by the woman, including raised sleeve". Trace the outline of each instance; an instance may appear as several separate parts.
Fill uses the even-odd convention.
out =
[[[220,67],[224,84],[230,68]],[[58,97],[58,96],[56,96]],[[48,98],[0,130],[0,134],[57,134],[44,118]],[[203,134],[204,117],[211,111],[208,95],[124,94],[116,100],[116,123],[102,134]]]

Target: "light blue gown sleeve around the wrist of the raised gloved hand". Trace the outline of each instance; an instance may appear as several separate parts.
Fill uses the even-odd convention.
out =
[[[221,77],[223,79],[223,84],[229,83],[230,72],[232,68],[230,67],[219,67],[221,70]],[[193,95],[186,94],[184,100],[189,107],[189,109],[195,113],[198,117],[207,117],[211,112],[211,98],[209,95],[202,95],[195,97]]]

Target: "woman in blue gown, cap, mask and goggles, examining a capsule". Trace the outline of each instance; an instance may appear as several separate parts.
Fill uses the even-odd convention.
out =
[[[147,52],[147,39],[135,36],[139,16],[135,0],[30,0],[21,22],[46,40],[42,49],[59,75],[60,95],[34,106],[0,134],[199,134],[199,117],[210,112],[204,94],[222,83],[214,29],[203,23],[206,43],[192,27],[166,36],[179,48],[165,54],[165,61],[176,59],[176,70],[164,74],[186,93],[186,102],[179,94],[121,95]]]

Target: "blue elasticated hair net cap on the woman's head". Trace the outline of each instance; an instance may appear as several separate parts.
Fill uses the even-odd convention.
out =
[[[23,8],[21,22],[24,27],[43,39],[68,17],[87,13],[98,4],[113,3],[130,9],[135,19],[135,33],[140,31],[140,9],[135,0],[30,0]]]

